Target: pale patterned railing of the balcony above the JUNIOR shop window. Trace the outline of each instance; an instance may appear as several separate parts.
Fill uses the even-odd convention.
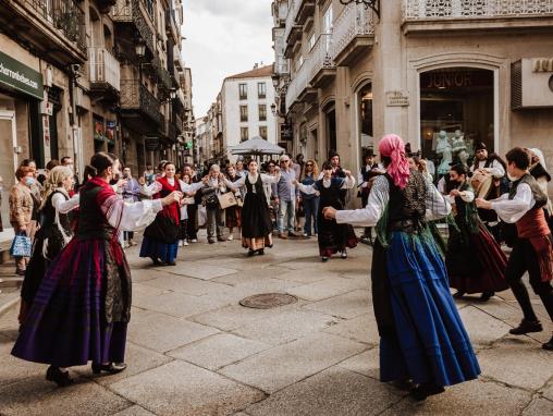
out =
[[[553,0],[404,0],[406,21],[553,15]]]

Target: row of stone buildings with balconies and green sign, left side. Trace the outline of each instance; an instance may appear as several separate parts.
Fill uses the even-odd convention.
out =
[[[181,0],[0,0],[4,181],[25,158],[70,156],[78,174],[98,150],[135,173],[179,160],[192,112],[182,24]]]

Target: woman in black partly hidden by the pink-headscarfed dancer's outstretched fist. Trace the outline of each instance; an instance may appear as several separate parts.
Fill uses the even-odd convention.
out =
[[[354,229],[348,224],[337,224],[333,219],[322,216],[323,207],[344,209],[343,192],[355,186],[355,179],[349,171],[343,171],[345,178],[333,176],[332,164],[324,162],[322,178],[312,185],[304,185],[295,181],[304,194],[320,195],[317,215],[317,241],[322,261],[327,261],[335,253],[341,253],[342,258],[347,258],[347,248],[357,246],[357,237]]]

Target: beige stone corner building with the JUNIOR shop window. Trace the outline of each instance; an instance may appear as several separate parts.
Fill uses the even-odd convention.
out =
[[[483,142],[553,163],[553,1],[273,2],[274,77],[293,152],[357,170],[396,133],[443,172]]]

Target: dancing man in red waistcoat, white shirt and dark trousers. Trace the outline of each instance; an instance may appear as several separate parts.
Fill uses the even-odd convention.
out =
[[[526,272],[529,274],[530,285],[540,296],[553,320],[553,286],[551,285],[553,238],[542,209],[548,203],[548,195],[528,172],[529,152],[515,147],[507,152],[506,158],[508,179],[513,181],[511,192],[492,201],[479,198],[476,203],[481,209],[497,212],[502,221],[516,224],[517,237],[507,262],[506,280],[524,314],[520,325],[509,332],[514,335],[523,335],[543,330],[521,281]],[[543,344],[543,348],[553,351],[553,337]]]

